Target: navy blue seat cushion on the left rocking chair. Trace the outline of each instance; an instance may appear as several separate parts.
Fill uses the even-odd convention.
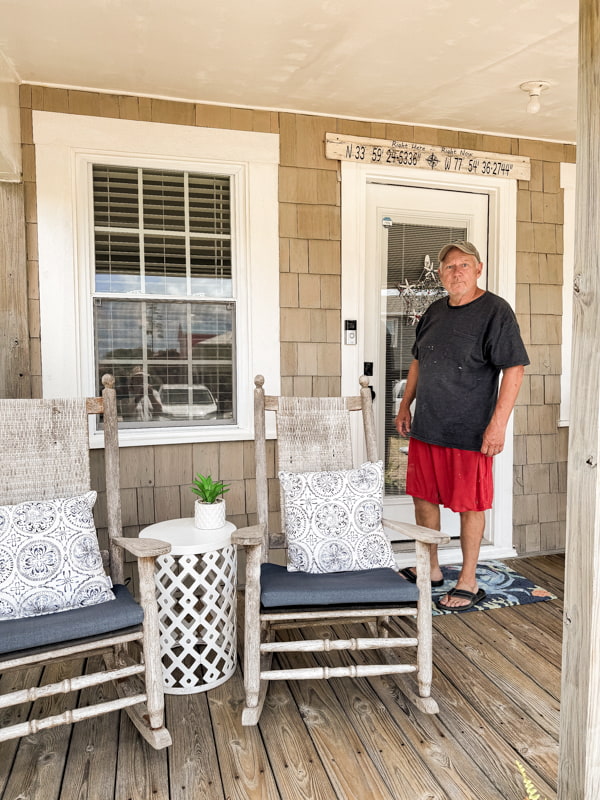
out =
[[[140,625],[144,612],[127,587],[113,586],[112,592],[115,599],[108,603],[0,621],[0,653],[58,646],[73,639],[99,636]]]

